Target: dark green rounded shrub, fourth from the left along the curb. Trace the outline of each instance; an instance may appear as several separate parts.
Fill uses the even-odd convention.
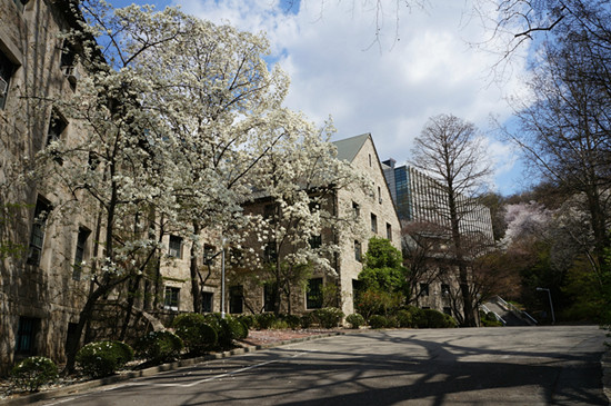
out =
[[[217,330],[206,323],[203,315],[189,313],[174,318],[172,327],[191,354],[202,354],[217,346]]]

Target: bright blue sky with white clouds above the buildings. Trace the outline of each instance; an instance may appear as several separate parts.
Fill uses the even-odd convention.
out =
[[[528,185],[511,146],[493,136],[490,118],[511,117],[507,100],[523,93],[524,69],[517,58],[502,71],[491,70],[499,56],[478,47],[489,33],[473,17],[471,1],[407,9],[401,1],[382,0],[381,10],[374,0],[136,2],[180,6],[217,23],[266,32],[270,60],[291,77],[286,105],[318,123],[331,116],[335,139],[371,132],[381,160],[409,161],[413,138],[431,116],[452,113],[474,122],[494,162],[491,187],[509,195]]]

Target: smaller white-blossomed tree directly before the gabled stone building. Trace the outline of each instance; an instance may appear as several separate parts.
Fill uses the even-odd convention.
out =
[[[367,175],[337,159],[328,125],[322,130],[300,115],[286,111],[279,117],[284,136],[270,148],[254,169],[256,194],[248,206],[263,205],[263,214],[250,216],[250,239],[259,252],[259,266],[274,287],[274,311],[282,298],[291,313],[291,295],[312,270],[335,276],[332,258],[343,236],[358,234],[361,226],[342,217],[334,196],[340,189],[370,186]],[[345,210],[350,212],[350,210]],[[250,237],[249,237],[250,235]]]

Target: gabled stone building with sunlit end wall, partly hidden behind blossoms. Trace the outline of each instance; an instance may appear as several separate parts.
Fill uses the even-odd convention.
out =
[[[388,238],[400,249],[400,222],[388,189],[375,146],[370,133],[347,138],[333,142],[338,159],[348,161],[352,167],[365,172],[372,181],[373,192],[362,189],[333,190],[324,197],[328,211],[340,218],[349,218],[360,222],[367,231],[364,235],[334,234],[323,230],[322,241],[333,239],[340,252],[330,256],[329,261],[335,275],[329,275],[320,269],[311,270],[307,286],[292,288],[289,304],[281,311],[302,314],[324,306],[340,307],[345,315],[354,313],[354,289],[362,270],[362,258],[368,249],[370,237]],[[272,210],[272,201],[264,197],[246,205],[246,211],[266,216]],[[270,252],[261,251],[266,258]],[[276,255],[276,252],[273,252]],[[280,250],[278,257],[286,255]],[[274,257],[276,258],[276,257]],[[233,273],[228,283],[228,309],[230,313],[271,311],[273,290],[270,283],[262,276],[261,269],[241,269]],[[325,295],[332,294],[332,297]],[[290,308],[289,308],[290,306]]]

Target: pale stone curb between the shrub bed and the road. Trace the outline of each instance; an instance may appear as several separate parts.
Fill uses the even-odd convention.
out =
[[[242,347],[242,348],[234,348],[234,349],[230,349],[230,350],[227,350],[227,351],[209,354],[209,355],[204,355],[204,356],[197,357],[197,358],[188,358],[188,359],[177,360],[177,362],[170,363],[170,364],[162,364],[162,365],[158,365],[158,366],[141,369],[141,370],[131,370],[129,373],[123,373],[123,374],[120,374],[120,375],[113,375],[113,376],[109,376],[109,377],[106,377],[106,378],[102,378],[102,379],[88,380],[88,382],[83,382],[81,384],[74,384],[74,385],[69,385],[69,386],[64,386],[64,387],[61,387],[61,388],[40,392],[40,393],[37,393],[37,394],[19,396],[19,397],[13,398],[13,399],[0,399],[0,405],[2,405],[2,406],[29,405],[29,404],[32,404],[34,402],[53,399],[53,398],[59,397],[59,396],[76,395],[76,394],[79,394],[79,393],[81,393],[83,390],[87,390],[87,389],[92,389],[92,388],[97,388],[97,387],[100,387],[100,386],[112,385],[112,384],[117,384],[117,383],[120,383],[120,382],[123,382],[123,380],[153,376],[153,375],[157,375],[159,373],[163,373],[163,372],[168,372],[168,370],[174,370],[174,369],[178,369],[178,368],[183,368],[183,367],[197,365],[197,364],[204,363],[204,362],[208,362],[208,360],[228,358],[228,357],[231,357],[231,356],[234,356],[234,355],[254,353],[254,351],[258,351],[258,350],[261,350],[261,349],[269,349],[269,348],[280,347],[280,346],[283,346],[283,345],[288,345],[288,344],[310,341],[310,340],[327,338],[327,337],[332,337],[332,336],[341,336],[341,335],[344,335],[344,334],[345,334],[344,331],[333,331],[333,333],[318,334],[315,336],[307,336],[307,337],[301,337],[301,338],[287,339],[287,340],[277,341],[277,343],[270,343],[270,344],[263,344],[263,345],[257,345],[257,346],[247,346],[247,347]]]

